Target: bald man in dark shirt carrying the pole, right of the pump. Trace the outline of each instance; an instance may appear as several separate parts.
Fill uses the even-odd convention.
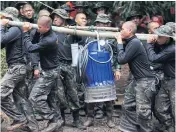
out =
[[[125,89],[119,129],[123,132],[153,132],[151,110],[156,91],[155,78],[150,70],[145,48],[135,36],[136,30],[136,24],[128,21],[116,36],[118,62],[128,63],[134,76],[134,81]]]

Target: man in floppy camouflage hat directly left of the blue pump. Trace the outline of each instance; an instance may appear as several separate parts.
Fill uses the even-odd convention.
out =
[[[52,12],[51,17],[53,19],[53,25],[66,26],[67,20],[69,20],[68,13],[64,9],[56,9]],[[58,87],[56,89],[59,94],[60,107],[62,118],[65,121],[65,106],[72,111],[73,126],[77,128],[83,128],[79,119],[79,98],[76,86],[76,72],[72,67],[72,54],[71,54],[71,41],[69,36],[63,33],[56,33],[58,37],[58,58],[60,61],[61,78],[64,87]],[[57,84],[58,85],[58,84]]]

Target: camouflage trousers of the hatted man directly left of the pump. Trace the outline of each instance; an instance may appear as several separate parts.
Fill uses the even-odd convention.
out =
[[[69,64],[62,63],[61,80],[64,87],[59,87],[60,103],[66,105],[72,110],[77,111],[80,108],[77,83],[76,83],[76,70]],[[62,93],[62,94],[61,94]]]

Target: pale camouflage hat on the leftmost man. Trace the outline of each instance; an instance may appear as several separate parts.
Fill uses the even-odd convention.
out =
[[[19,21],[18,19],[19,12],[15,7],[7,7],[0,13],[5,17],[11,18],[13,21]]]

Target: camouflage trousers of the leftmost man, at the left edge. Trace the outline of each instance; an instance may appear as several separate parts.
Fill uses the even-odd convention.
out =
[[[32,105],[27,99],[25,85],[26,66],[14,64],[8,68],[1,80],[1,108],[14,121],[28,120],[28,127],[38,131],[38,124],[34,117]]]

